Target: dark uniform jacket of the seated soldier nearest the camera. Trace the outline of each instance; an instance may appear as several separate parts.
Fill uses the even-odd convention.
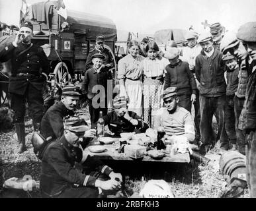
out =
[[[83,155],[81,148],[71,146],[62,136],[50,143],[42,158],[42,173],[40,175],[40,189],[48,196],[58,196],[65,188],[72,185],[95,187],[96,177],[81,173],[75,169],[75,162],[89,166],[105,175],[112,169],[100,160]]]

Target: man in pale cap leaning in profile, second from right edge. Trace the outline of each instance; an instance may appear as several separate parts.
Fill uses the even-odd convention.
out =
[[[245,101],[248,76],[251,74],[249,64],[252,62],[252,59],[249,59],[249,53],[245,49],[245,46],[243,46],[242,42],[237,39],[235,33],[231,31],[227,32],[222,39],[220,50],[224,54],[230,53],[231,55],[234,55],[237,58],[237,63],[239,65],[238,87],[234,97],[235,131],[238,151],[241,154],[245,154],[245,133],[238,128],[238,124],[239,116]]]

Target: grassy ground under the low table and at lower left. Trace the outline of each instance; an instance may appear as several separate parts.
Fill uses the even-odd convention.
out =
[[[31,175],[38,181],[41,162],[34,155],[30,138],[32,121],[26,119],[26,146],[28,150],[17,154],[18,143],[13,138],[14,131],[0,134],[0,196],[2,197],[40,197],[38,190],[30,193],[16,191],[8,193],[3,190],[3,183],[11,177],[21,178]],[[137,164],[136,162],[120,164],[110,163],[111,167],[120,171],[125,177],[122,194],[126,197],[139,193],[149,179],[164,179],[169,183],[176,197],[181,198],[218,198],[225,190],[226,181],[219,172],[216,148],[208,152],[211,161],[208,166],[191,164]],[[125,167],[124,167],[125,166]],[[247,191],[241,197],[248,197]]]

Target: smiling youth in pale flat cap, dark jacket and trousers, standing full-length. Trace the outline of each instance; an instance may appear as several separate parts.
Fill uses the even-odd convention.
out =
[[[201,153],[206,154],[211,144],[218,140],[224,144],[223,150],[228,150],[228,136],[225,129],[226,82],[224,78],[224,61],[222,53],[214,49],[212,34],[201,34],[198,43],[202,47],[196,57],[196,78],[200,82],[200,133],[202,138]],[[212,129],[212,117],[215,115],[218,123],[218,135],[215,137]]]

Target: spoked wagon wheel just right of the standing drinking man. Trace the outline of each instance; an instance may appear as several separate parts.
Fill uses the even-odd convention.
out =
[[[69,82],[70,75],[67,69],[67,65],[64,62],[60,62],[56,65],[54,69],[54,79],[56,80],[56,84],[62,87],[65,82]]]

